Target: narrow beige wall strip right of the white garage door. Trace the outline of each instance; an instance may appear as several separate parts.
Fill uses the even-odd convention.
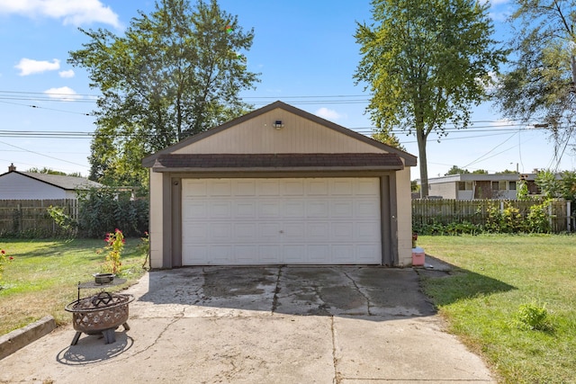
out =
[[[396,196],[398,199],[398,266],[403,267],[412,263],[410,167],[396,172]]]

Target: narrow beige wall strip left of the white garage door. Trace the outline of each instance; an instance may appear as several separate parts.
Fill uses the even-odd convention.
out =
[[[164,196],[162,194],[163,174],[157,174],[150,169],[150,266],[152,268],[164,267],[162,259],[163,248],[163,217],[162,203]]]

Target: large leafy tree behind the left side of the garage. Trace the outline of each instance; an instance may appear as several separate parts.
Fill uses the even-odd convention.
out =
[[[68,63],[88,71],[98,98],[90,178],[111,185],[147,185],[143,156],[247,112],[241,90],[258,74],[241,51],[254,31],[217,0],[157,0],[123,36],[80,30],[90,38]]]

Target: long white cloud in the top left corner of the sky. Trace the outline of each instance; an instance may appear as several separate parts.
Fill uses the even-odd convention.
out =
[[[100,0],[0,0],[0,14],[61,19],[64,25],[80,26],[92,22],[121,27],[118,14]]]

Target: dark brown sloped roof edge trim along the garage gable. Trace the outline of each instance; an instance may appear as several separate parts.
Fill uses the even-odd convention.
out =
[[[295,114],[295,115],[297,115],[303,119],[316,122],[317,124],[320,124],[326,128],[334,129],[334,130],[338,131],[339,133],[347,135],[350,138],[355,138],[357,140],[365,142],[366,144],[380,148],[380,149],[388,152],[389,154],[392,154],[394,156],[398,156],[399,158],[404,159],[405,165],[408,165],[408,166],[415,166],[416,165],[416,156],[410,155],[409,153],[404,152],[401,149],[388,146],[386,144],[381,143],[380,141],[374,140],[374,138],[368,138],[367,136],[362,135],[362,134],[360,134],[354,130],[347,129],[347,128],[342,127],[342,126],[340,126],[340,125],[338,125],[332,121],[327,121],[327,120],[322,119],[322,118],[320,118],[320,117],[318,117],[318,116],[316,116],[310,112],[302,111],[301,109],[295,108],[292,105],[289,105],[289,104],[286,104],[286,103],[283,103],[280,101],[268,104],[262,108],[257,109],[256,111],[249,112],[243,116],[238,117],[237,119],[234,119],[232,121],[228,121],[224,124],[221,124],[218,127],[208,129],[202,133],[198,133],[198,134],[193,135],[189,138],[184,138],[184,140],[176,143],[173,146],[166,147],[166,148],[158,151],[157,153],[155,153],[153,155],[146,156],[144,159],[142,159],[142,165],[144,165],[146,167],[155,166],[155,164],[157,164],[157,159],[159,159],[160,157],[163,157],[166,161],[166,155],[170,155],[180,148],[187,147],[187,146],[189,146],[189,145],[191,145],[197,141],[202,140],[203,138],[208,138],[211,135],[214,135],[216,133],[221,132],[222,130],[229,129],[229,128],[234,127],[234,126],[236,126],[236,125],[238,125],[244,121],[254,119],[257,116],[260,116],[266,112],[270,112],[270,111],[273,111],[273,110],[278,109],[278,108],[282,109],[286,112],[291,112],[291,113],[293,113],[293,114]],[[342,155],[342,154],[339,154],[339,155]],[[196,156],[196,155],[194,155],[194,156]]]

